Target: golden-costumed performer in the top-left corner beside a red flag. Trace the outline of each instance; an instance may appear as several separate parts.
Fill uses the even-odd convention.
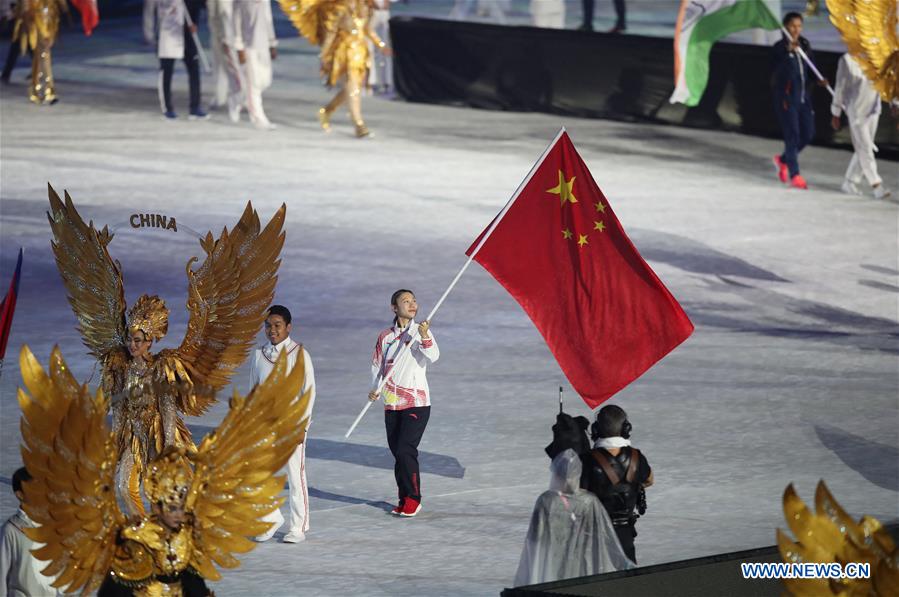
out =
[[[36,104],[54,104],[58,99],[50,49],[59,33],[60,14],[68,10],[66,0],[19,0],[16,4],[12,38],[21,44],[23,54],[31,50],[28,97]]]

